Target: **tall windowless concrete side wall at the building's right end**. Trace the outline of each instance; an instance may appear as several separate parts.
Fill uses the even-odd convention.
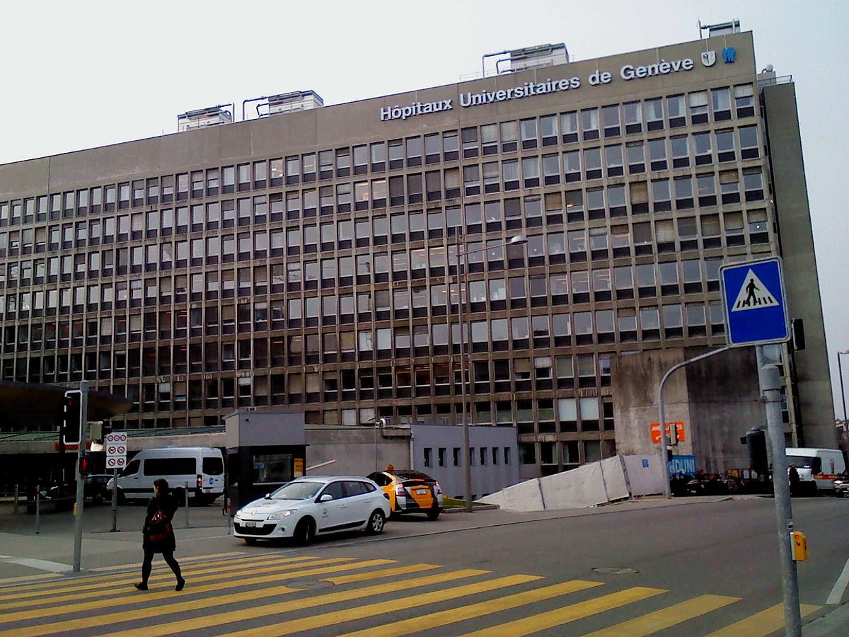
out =
[[[825,342],[823,304],[819,295],[817,258],[813,252],[811,211],[807,201],[805,163],[796,110],[796,85],[764,87],[770,170],[779,219],[784,283],[791,318],[805,324],[806,347],[795,352],[796,399],[799,401],[800,445],[835,448],[834,398]],[[843,273],[835,276],[843,276]]]

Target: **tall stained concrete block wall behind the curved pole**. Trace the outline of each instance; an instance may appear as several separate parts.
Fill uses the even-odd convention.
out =
[[[616,449],[622,454],[657,454],[650,424],[658,422],[657,388],[673,365],[705,352],[700,348],[654,350],[612,362]],[[682,421],[686,440],[677,452],[694,455],[707,471],[749,465],[739,437],[766,422],[757,386],[754,349],[735,348],[678,370],[666,381],[667,422]]]

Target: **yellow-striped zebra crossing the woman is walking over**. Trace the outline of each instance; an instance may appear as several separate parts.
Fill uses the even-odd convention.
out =
[[[739,597],[682,598],[649,586],[532,573],[357,557],[227,554],[183,561],[186,589],[165,567],[149,590],[132,589],[138,572],[110,567],[96,575],[0,588],[0,634],[108,635],[648,635],[692,628],[710,617],[713,635],[756,637],[784,626],[783,607],[749,617],[729,612]],[[803,605],[802,614],[819,606]],[[628,617],[622,621],[622,617]],[[702,627],[706,624],[700,624]],[[694,632],[696,631],[696,632]]]

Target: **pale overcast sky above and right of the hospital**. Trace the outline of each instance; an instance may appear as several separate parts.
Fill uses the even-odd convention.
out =
[[[843,217],[849,3],[652,0],[7,3],[0,164],[176,132],[177,115],[312,89],[340,104],[457,82],[481,55],[565,42],[573,60],[699,37],[740,20],[757,65],[792,75],[836,415],[849,350]],[[849,356],[846,382],[849,383]]]

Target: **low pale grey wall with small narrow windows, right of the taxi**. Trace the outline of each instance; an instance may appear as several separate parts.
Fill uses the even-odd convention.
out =
[[[448,497],[465,498],[465,477],[461,454],[460,465],[453,464],[453,450],[463,448],[463,428],[456,425],[412,425],[412,469],[423,471],[438,480]],[[472,496],[481,497],[519,482],[519,448],[514,427],[469,426],[472,448]],[[424,465],[424,449],[431,449],[432,462]],[[439,464],[439,449],[445,449],[445,465]],[[480,449],[486,448],[486,464],[481,465]],[[498,464],[492,462],[496,449]],[[509,449],[504,462],[504,448]],[[400,468],[400,465],[396,465]]]

